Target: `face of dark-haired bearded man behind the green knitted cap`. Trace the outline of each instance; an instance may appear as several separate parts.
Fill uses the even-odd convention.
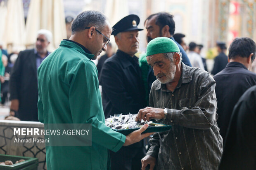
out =
[[[156,37],[162,37],[161,30],[158,25],[156,25],[156,16],[146,21],[147,29],[147,42],[153,40]]]

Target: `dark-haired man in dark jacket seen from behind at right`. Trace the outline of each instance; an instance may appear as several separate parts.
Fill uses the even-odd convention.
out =
[[[236,38],[229,47],[229,63],[213,77],[218,100],[217,123],[224,142],[234,106],[248,88],[256,85],[256,74],[249,71],[255,59],[255,51],[253,40],[247,37]]]

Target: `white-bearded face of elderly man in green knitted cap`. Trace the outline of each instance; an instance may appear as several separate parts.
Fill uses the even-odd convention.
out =
[[[166,58],[163,53],[147,56],[147,63],[153,68],[154,75],[162,84],[173,81],[176,73],[176,65]]]

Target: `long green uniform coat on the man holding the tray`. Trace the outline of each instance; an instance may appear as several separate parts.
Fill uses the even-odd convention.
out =
[[[63,40],[38,68],[38,119],[42,123],[91,123],[91,147],[46,147],[48,170],[110,169],[108,150],[126,136],[105,126],[98,72],[77,44]]]

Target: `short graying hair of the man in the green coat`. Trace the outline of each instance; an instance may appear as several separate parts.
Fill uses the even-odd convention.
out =
[[[107,25],[107,17],[99,11],[84,11],[78,14],[71,23],[72,35],[78,31],[84,30],[85,27],[95,26],[96,29],[102,30]]]

